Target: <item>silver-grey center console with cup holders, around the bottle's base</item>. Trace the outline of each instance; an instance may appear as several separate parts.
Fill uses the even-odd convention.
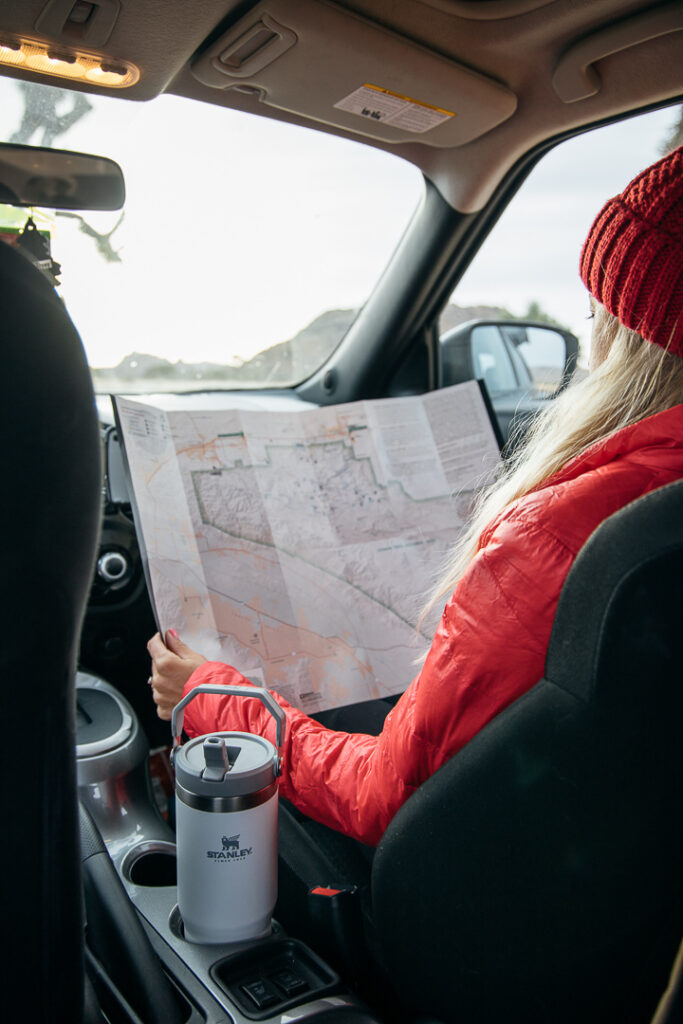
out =
[[[187,1024],[299,1020],[379,1024],[335,972],[276,922],[246,942],[188,942],[178,911],[175,837],[160,813],[148,745],[128,701],[103,680],[77,679],[79,797],[106,847]],[[184,1015],[183,1015],[184,1016]]]

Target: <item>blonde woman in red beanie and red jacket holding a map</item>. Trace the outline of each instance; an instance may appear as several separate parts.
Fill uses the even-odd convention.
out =
[[[483,497],[433,599],[452,595],[422,671],[379,736],[326,729],[275,694],[289,723],[282,795],[366,844],[541,679],[562,584],[590,534],[683,477],[683,148],[606,204],[581,273],[595,314],[591,374],[539,417]],[[246,683],[174,631],[148,650],[163,719],[197,685]],[[273,732],[257,701],[206,694],[184,723],[189,735]]]

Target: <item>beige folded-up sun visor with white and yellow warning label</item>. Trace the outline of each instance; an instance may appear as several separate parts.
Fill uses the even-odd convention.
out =
[[[517,105],[500,82],[316,0],[263,0],[191,71],[214,89],[383,142],[463,145]]]

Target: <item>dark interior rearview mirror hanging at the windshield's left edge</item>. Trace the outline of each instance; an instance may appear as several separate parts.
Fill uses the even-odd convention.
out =
[[[123,173],[105,157],[0,142],[0,203],[51,210],[120,210]]]

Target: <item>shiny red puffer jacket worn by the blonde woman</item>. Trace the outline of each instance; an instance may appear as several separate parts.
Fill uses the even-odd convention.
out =
[[[317,821],[377,844],[411,794],[542,678],[560,589],[589,535],[681,477],[677,406],[593,445],[506,509],[483,531],[422,671],[379,736],[333,732],[274,694],[288,718],[283,795]],[[234,669],[208,662],[184,692],[240,682]],[[274,740],[272,719],[256,700],[201,694],[184,721],[191,736],[241,730]]]

